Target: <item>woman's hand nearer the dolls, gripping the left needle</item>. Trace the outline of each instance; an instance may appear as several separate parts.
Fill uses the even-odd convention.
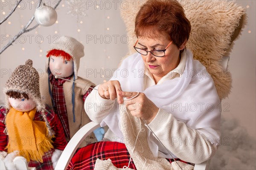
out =
[[[123,102],[123,98],[119,95],[119,91],[122,91],[122,88],[120,82],[117,80],[105,82],[99,85],[98,88],[99,95],[102,98],[115,100],[117,97],[118,103],[121,104]]]

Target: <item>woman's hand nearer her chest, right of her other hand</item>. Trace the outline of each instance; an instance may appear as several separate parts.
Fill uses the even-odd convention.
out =
[[[119,91],[119,95],[121,97],[131,98],[136,96],[137,92]],[[148,99],[144,93],[139,93],[137,97],[131,100],[126,100],[125,105],[131,112],[131,115],[144,119],[147,124],[152,122],[159,110],[159,108],[157,108],[157,106]]]

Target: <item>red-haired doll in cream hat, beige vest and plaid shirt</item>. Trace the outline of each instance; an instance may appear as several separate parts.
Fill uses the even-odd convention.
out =
[[[58,114],[69,141],[82,126],[90,122],[84,110],[84,100],[92,91],[89,87],[95,85],[77,75],[80,58],[84,56],[84,45],[75,38],[60,37],[51,44],[47,53],[47,74],[40,78],[41,99]],[[94,139],[92,133],[81,146],[92,143]]]

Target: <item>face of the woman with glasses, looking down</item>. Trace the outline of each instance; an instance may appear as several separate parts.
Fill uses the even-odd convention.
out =
[[[159,38],[154,39],[139,37],[136,47],[145,49],[146,51],[164,50],[170,42],[171,41],[165,36],[160,36]],[[141,55],[145,67],[147,67],[150,73],[153,75],[156,83],[163,76],[177,67],[177,65],[180,63],[180,50],[182,50],[184,47],[181,45],[179,49],[176,45],[171,44],[165,51],[164,57],[156,57],[150,52],[148,52],[147,55]]]

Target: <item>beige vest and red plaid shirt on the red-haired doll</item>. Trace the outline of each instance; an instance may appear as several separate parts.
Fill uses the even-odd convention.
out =
[[[49,77],[50,76],[50,77]],[[50,79],[49,79],[50,78]],[[50,84],[48,85],[48,79]],[[73,80],[73,76],[67,79]],[[53,99],[55,100],[55,113],[61,119],[61,124],[64,128],[64,133],[67,141],[69,141],[75,133],[84,125],[90,122],[87,113],[84,110],[84,99],[90,94],[91,89],[89,87],[94,87],[95,85],[89,80],[78,77],[75,83],[75,115],[73,115],[73,104],[72,104],[72,85],[73,82],[65,81],[62,79],[55,79],[52,74],[48,75],[46,73],[40,77],[40,94],[42,102],[53,108],[52,99],[49,94],[49,86],[52,91]],[[87,85],[81,85],[81,84]],[[75,121],[74,121],[75,118]],[[94,141],[94,134],[90,134],[81,144],[81,147],[87,145]]]

